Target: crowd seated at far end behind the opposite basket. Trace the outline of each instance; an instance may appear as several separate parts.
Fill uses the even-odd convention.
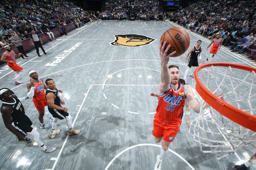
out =
[[[98,11],[97,15],[102,20],[128,20],[130,16],[138,20],[164,20],[166,15],[158,11],[158,1],[135,1],[135,13],[131,13],[131,4],[128,0],[109,0],[106,2],[106,11]]]

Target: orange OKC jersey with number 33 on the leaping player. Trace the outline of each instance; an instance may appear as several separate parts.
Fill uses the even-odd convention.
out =
[[[179,83],[176,91],[170,84],[169,91],[158,97],[156,115],[164,121],[180,121],[185,106],[184,86]]]

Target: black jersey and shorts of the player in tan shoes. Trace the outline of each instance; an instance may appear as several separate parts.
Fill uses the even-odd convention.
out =
[[[59,97],[58,90],[56,88],[55,88],[55,91],[47,89],[46,92],[45,92],[45,96],[48,93],[53,93],[55,95],[56,98],[54,99],[54,104],[61,107],[61,105],[60,105],[60,97]],[[46,98],[46,100],[47,100],[47,98]],[[52,114],[53,117],[58,118],[60,120],[66,119],[66,117],[68,117],[68,112],[64,112],[64,110],[53,109],[49,105],[48,105],[48,110]]]

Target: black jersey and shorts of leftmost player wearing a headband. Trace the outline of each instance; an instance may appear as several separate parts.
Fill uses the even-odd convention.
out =
[[[27,135],[27,132],[31,132],[33,130],[32,122],[28,118],[27,115],[25,115],[25,110],[23,105],[21,104],[20,100],[13,96],[14,103],[6,103],[3,102],[2,107],[8,106],[12,108],[11,113],[11,123],[12,126],[17,129],[17,131],[22,135]]]

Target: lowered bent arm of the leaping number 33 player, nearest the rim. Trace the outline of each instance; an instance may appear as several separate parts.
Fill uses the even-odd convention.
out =
[[[188,100],[190,107],[193,109],[194,112],[199,113],[200,103],[198,103],[195,99],[193,90],[189,86],[185,86],[184,90],[186,94],[186,99]]]

